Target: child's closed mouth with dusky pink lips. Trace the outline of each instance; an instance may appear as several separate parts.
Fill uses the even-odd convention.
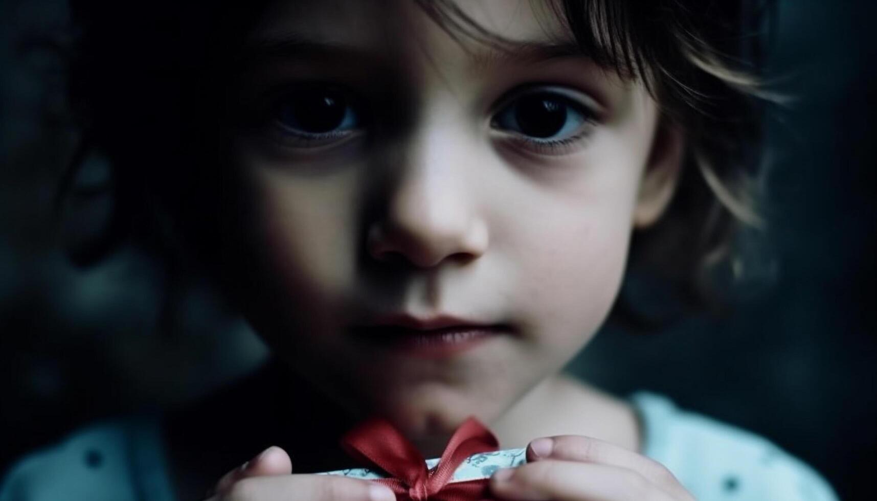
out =
[[[357,340],[376,347],[424,358],[444,358],[468,351],[498,334],[510,332],[508,326],[502,325],[458,324],[424,328],[442,323],[453,323],[453,320],[440,318],[422,322],[399,317],[374,325],[354,326],[351,333]]]

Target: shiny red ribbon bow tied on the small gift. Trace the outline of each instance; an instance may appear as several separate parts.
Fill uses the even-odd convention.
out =
[[[391,478],[373,482],[387,485],[396,499],[410,501],[477,501],[488,497],[488,479],[449,483],[453,472],[472,454],[499,448],[493,433],[469,418],[448,441],[439,464],[426,468],[424,456],[385,419],[373,419],[347,433],[341,440],[348,454],[376,466]]]

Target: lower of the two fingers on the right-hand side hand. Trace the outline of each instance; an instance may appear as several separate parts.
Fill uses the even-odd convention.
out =
[[[543,460],[501,469],[490,478],[490,490],[521,501],[674,501],[631,469],[588,462]]]

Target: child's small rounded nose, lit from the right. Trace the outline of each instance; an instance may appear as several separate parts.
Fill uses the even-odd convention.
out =
[[[369,254],[403,258],[419,268],[446,259],[472,260],[488,248],[474,176],[473,152],[440,132],[428,134],[407,156],[383,216],[369,227]]]

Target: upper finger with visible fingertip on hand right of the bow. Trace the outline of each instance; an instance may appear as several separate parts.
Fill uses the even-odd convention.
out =
[[[545,459],[599,463],[632,469],[675,497],[693,499],[673,472],[660,462],[603,440],[581,435],[557,435],[531,441],[527,447],[527,461],[538,462]]]

